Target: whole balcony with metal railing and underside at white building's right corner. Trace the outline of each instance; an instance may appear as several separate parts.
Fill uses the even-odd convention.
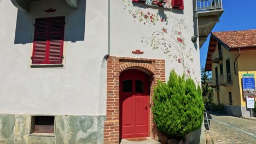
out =
[[[213,27],[219,22],[224,10],[222,0],[197,0],[197,19],[199,27],[199,45],[205,43]]]

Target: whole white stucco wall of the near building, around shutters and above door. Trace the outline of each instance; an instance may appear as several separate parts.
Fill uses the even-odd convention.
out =
[[[24,13],[9,0],[0,1],[0,113],[106,115],[108,1],[79,0],[78,9],[70,8],[64,0],[32,1],[30,6],[30,12]],[[49,8],[57,10],[45,13]],[[159,11],[141,9],[146,13]],[[195,46],[190,40],[194,35],[192,1],[185,2],[184,10],[164,13],[184,19],[189,28],[182,29],[186,49],[191,49],[194,59],[188,66],[194,70],[190,72],[193,79],[200,82],[199,42]],[[31,69],[34,18],[60,15],[66,16],[65,68]],[[158,22],[150,27],[133,22],[121,0],[110,0],[110,55],[165,59],[166,79],[173,68],[182,74],[183,67],[175,58],[141,43],[142,36],[162,27],[169,31],[175,22],[169,18],[167,26]],[[144,51],[143,55],[131,52],[137,49]]]

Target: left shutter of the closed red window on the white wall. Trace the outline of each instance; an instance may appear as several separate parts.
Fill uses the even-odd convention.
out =
[[[43,64],[46,61],[46,47],[48,45],[49,19],[36,19],[34,27],[34,42],[32,64]]]

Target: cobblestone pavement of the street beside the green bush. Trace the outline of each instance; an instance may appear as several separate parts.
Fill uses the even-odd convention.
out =
[[[206,135],[210,135],[212,137],[214,144],[256,143],[255,120],[232,116],[219,116],[214,114],[211,114],[208,117],[209,119],[212,119],[210,120],[211,131],[207,131]],[[238,128],[238,130],[236,128]],[[246,133],[251,133],[254,136]]]

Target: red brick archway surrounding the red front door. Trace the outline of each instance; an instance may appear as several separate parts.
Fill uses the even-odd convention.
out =
[[[107,64],[107,113],[104,122],[104,143],[119,143],[119,75],[126,69],[139,69],[150,75],[150,103],[157,80],[165,82],[165,60],[109,56]],[[158,131],[150,112],[150,131],[158,139]]]

